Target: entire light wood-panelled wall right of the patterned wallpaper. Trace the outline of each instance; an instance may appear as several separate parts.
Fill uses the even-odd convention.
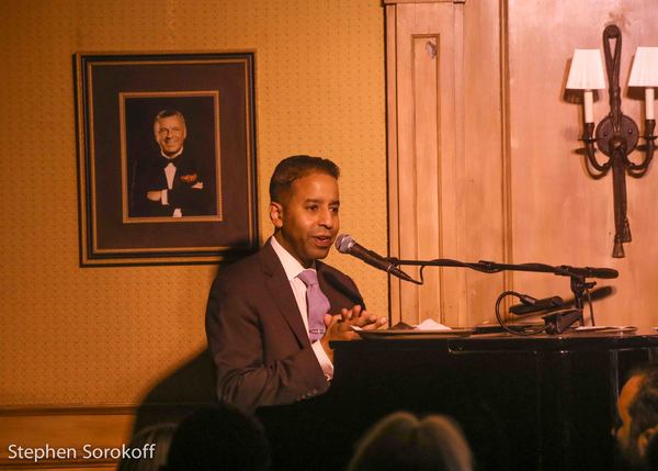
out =
[[[600,283],[616,292],[598,303],[599,324],[658,324],[655,171],[627,179],[634,239],[613,259],[611,176],[587,175],[575,153],[581,110],[564,92],[574,48],[602,47],[611,22],[624,35],[624,86],[635,47],[658,45],[655,2],[387,3],[390,254],[616,268],[617,280]],[[421,40],[438,42],[436,65]],[[606,91],[594,106],[601,120]],[[622,109],[640,117],[625,87]],[[392,281],[394,322],[494,321],[504,289],[570,296],[568,280],[546,274],[427,273],[420,288]]]

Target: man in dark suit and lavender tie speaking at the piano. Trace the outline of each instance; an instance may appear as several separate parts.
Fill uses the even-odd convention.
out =
[[[319,261],[339,229],[338,177],[328,159],[282,160],[270,181],[274,235],[215,279],[206,334],[220,401],[252,411],[321,394],[333,377],[329,343],[353,338],[352,326],[386,322],[363,309],[349,277]],[[317,274],[315,287],[308,273]],[[320,307],[319,324],[313,319],[318,283],[327,307]]]

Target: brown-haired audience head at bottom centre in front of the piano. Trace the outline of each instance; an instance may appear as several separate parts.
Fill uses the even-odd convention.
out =
[[[390,414],[365,433],[349,471],[472,471],[470,448],[449,417]]]

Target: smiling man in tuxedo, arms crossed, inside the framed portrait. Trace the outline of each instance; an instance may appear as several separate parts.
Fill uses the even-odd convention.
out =
[[[208,191],[198,156],[185,148],[188,126],[174,109],[160,111],[154,120],[159,152],[140,155],[131,184],[133,217],[184,217],[209,215]]]

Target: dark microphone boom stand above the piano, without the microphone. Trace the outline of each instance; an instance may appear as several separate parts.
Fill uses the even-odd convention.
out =
[[[558,311],[552,314],[545,315],[545,328],[548,334],[561,334],[572,324],[578,322],[581,326],[585,325],[583,309],[585,309],[585,295],[588,290],[592,289],[597,283],[594,281],[587,281],[587,278],[617,278],[619,272],[611,268],[591,268],[591,267],[569,267],[567,265],[560,265],[557,267],[545,265],[545,263],[498,263],[495,261],[480,260],[477,262],[466,262],[452,260],[449,258],[439,258],[434,260],[400,260],[395,257],[386,259],[396,267],[410,266],[420,267],[420,281],[411,280],[416,284],[423,284],[423,270],[427,267],[458,267],[469,268],[472,270],[480,271],[484,273],[498,273],[500,271],[530,271],[538,273],[553,273],[559,277],[569,277],[570,288],[574,293],[574,306],[572,310]],[[504,328],[504,326],[502,326]]]

